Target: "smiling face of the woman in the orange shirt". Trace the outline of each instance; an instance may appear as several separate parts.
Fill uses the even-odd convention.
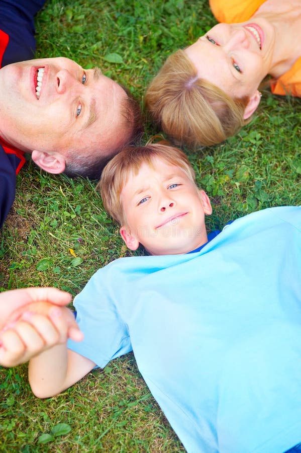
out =
[[[273,55],[272,27],[263,19],[218,24],[185,52],[197,75],[231,97],[251,97],[268,73]]]

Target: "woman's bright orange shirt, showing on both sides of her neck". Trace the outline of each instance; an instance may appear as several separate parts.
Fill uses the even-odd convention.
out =
[[[265,0],[209,0],[215,18],[228,24],[248,21],[264,2]],[[301,56],[270,85],[273,94],[289,94],[301,98]]]

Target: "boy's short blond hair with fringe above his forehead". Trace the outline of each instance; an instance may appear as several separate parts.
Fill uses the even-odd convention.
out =
[[[156,158],[181,168],[195,183],[194,170],[180,149],[163,142],[146,146],[126,146],[107,164],[96,186],[96,190],[101,193],[106,211],[120,225],[126,225],[120,194],[130,173],[137,175],[142,164],[152,166],[152,160]]]

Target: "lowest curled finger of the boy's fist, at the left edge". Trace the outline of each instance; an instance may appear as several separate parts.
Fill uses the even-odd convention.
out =
[[[14,330],[4,332],[0,337],[0,364],[3,366],[15,366],[23,363],[25,345]]]

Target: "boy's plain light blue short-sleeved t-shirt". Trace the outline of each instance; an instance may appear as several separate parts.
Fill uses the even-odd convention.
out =
[[[191,453],[281,453],[301,442],[301,208],[235,220],[202,250],[121,258],[75,298],[104,367],[131,350]]]

